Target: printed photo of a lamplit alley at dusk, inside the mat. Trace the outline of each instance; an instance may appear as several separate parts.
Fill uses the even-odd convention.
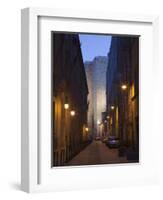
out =
[[[139,36],[53,32],[52,72],[52,166],[139,162]]]

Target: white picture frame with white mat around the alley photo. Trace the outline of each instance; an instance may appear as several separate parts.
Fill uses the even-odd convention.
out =
[[[55,23],[53,23],[52,20],[54,20]],[[67,21],[70,22],[71,26],[70,24],[66,25],[65,22]],[[43,103],[40,103],[40,98],[42,98],[40,91],[41,93],[45,92],[45,90],[42,90],[42,86],[48,89],[50,87],[49,82],[46,82],[42,79],[39,70],[42,62],[49,66],[49,68],[44,71],[46,74],[45,76],[49,77],[50,64],[49,60],[46,60],[46,58],[48,58],[50,54],[50,48],[47,50],[47,52],[41,50],[42,45],[45,45],[46,41],[44,40],[46,38],[41,37],[46,37],[47,30],[53,30],[55,27],[57,27],[57,30],[62,31],[92,31],[98,33],[109,33],[110,30],[107,28],[105,30],[104,28],[109,23],[110,25],[112,24],[112,33],[136,35],[142,34],[142,38],[144,38],[141,40],[142,49],[140,49],[140,88],[143,91],[141,92],[140,106],[141,121],[139,121],[142,137],[140,141],[142,143],[140,146],[140,163],[126,164],[123,166],[120,164],[114,164],[102,165],[101,167],[84,166],[75,168],[58,168],[52,170],[51,167],[46,164],[49,163],[50,159],[50,133],[47,135],[47,138],[45,137],[45,134],[41,134],[41,129],[43,127],[48,127],[46,125],[49,123],[49,121],[43,121],[43,124],[46,123],[43,127],[39,124],[40,116],[42,112],[44,112],[40,112],[41,107],[47,106],[48,102],[50,101],[50,96],[47,94],[47,98],[42,101]],[[97,29],[98,26],[100,26],[100,30]],[[91,11],[83,13],[82,11],[74,10],[25,8],[22,10],[21,27],[22,190],[26,192],[47,190],[59,191],[158,183],[158,156],[155,155],[157,144],[152,143],[152,137],[158,137],[159,134],[156,124],[157,122],[153,118],[157,90],[154,90],[155,95],[153,94],[153,97],[151,97],[149,100],[149,92],[151,88],[156,87],[157,84],[158,16],[140,16],[103,12],[93,13]],[[85,31],[84,28],[87,28],[87,31]],[[42,34],[43,36],[40,37],[39,31],[44,33],[44,30],[45,34]],[[149,41],[151,43],[149,43]],[[40,60],[39,56],[44,53],[45,59]],[[148,65],[148,68],[145,67],[146,65]],[[145,76],[147,69],[148,76]],[[153,84],[151,84],[151,81]],[[148,113],[149,108],[151,108],[151,115]],[[44,114],[47,116],[47,113]],[[47,119],[50,120],[48,117]],[[149,123],[151,125],[150,128],[147,127]],[[49,129],[47,128],[47,131],[48,130]],[[147,131],[148,135],[145,134]],[[42,140],[44,143],[42,143]],[[153,148],[150,148],[151,145],[153,145]],[[45,150],[47,147],[48,150]],[[148,155],[148,153],[151,155],[151,157]],[[42,159],[43,157],[45,160]]]

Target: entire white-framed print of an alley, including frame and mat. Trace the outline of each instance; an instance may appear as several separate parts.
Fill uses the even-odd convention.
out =
[[[22,190],[157,183],[157,62],[157,16],[23,9]]]

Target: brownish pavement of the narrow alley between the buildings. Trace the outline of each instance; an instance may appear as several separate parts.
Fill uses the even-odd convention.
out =
[[[97,165],[126,163],[126,157],[118,156],[118,149],[109,149],[101,141],[93,141],[66,165]]]

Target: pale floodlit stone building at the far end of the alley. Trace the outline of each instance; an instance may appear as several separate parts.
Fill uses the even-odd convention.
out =
[[[85,70],[89,88],[88,126],[93,137],[100,136],[102,112],[106,109],[106,56],[95,57],[91,62],[85,62]]]

